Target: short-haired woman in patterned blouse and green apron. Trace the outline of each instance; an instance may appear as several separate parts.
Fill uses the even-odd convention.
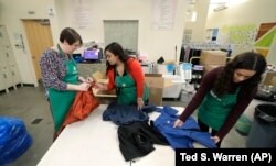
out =
[[[83,44],[79,34],[66,27],[61,32],[60,44],[47,48],[41,57],[42,82],[50,101],[55,132],[61,125],[74,101],[76,91],[86,91],[92,78],[86,80],[78,75],[72,53]]]

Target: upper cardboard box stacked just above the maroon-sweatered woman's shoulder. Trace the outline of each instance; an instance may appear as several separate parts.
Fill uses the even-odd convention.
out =
[[[222,51],[202,51],[200,55],[200,65],[225,65],[226,52]]]

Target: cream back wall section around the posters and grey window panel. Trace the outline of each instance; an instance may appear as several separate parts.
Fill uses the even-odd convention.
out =
[[[153,31],[152,0],[93,0],[87,1],[92,10],[92,27],[77,30],[85,40],[104,42],[103,20],[139,20],[138,51],[147,53],[150,60],[160,56],[174,59],[174,47],[180,52],[185,13],[185,0],[177,0],[174,26],[171,31]],[[72,3],[67,0],[56,2],[60,29],[73,26]]]

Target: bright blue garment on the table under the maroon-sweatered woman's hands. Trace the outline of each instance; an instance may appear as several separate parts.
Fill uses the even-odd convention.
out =
[[[158,108],[157,112],[161,114],[156,119],[155,126],[166,136],[172,148],[193,148],[193,142],[199,142],[202,145],[215,148],[216,145],[208,132],[200,132],[199,124],[192,117],[189,117],[183,125],[173,128],[177,121],[177,110],[164,106]]]

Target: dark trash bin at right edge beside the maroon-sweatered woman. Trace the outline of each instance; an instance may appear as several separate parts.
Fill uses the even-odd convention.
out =
[[[276,147],[276,104],[258,104],[246,147]]]

